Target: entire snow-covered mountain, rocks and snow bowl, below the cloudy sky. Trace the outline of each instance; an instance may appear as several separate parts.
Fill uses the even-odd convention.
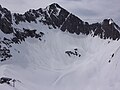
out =
[[[89,24],[56,3],[0,6],[0,90],[119,90],[120,27]]]

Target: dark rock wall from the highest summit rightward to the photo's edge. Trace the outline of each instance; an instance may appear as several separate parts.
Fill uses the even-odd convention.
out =
[[[77,16],[69,13],[58,4],[54,3],[46,10],[46,21],[54,28],[60,28],[69,33],[80,33],[93,36],[99,36],[101,39],[118,40],[120,38],[120,27],[112,19],[104,19],[102,23],[90,24],[79,19]],[[50,23],[51,22],[51,23]]]

